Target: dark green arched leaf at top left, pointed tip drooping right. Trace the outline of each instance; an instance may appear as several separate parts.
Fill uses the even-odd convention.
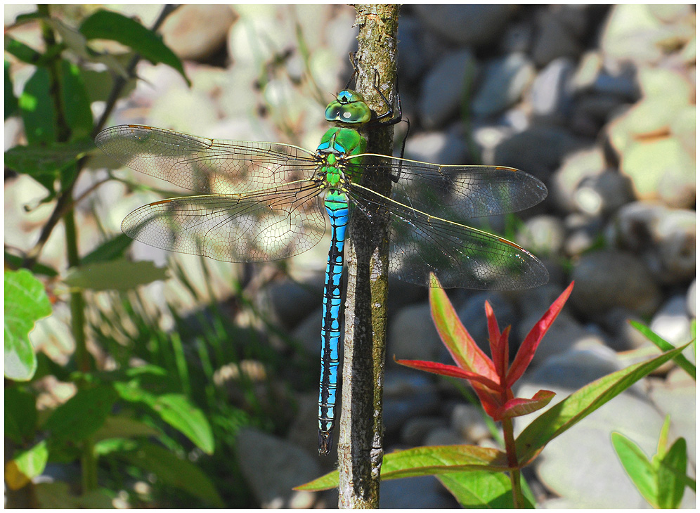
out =
[[[119,41],[152,63],[169,65],[183,76],[188,86],[190,85],[182,63],[173,51],[165,46],[155,32],[131,18],[111,11],[97,11],[82,23],[80,32],[86,39]]]

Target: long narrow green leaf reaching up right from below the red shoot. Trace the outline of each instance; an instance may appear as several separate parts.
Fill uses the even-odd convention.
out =
[[[518,436],[515,441],[518,461],[521,464],[530,462],[550,440],[677,356],[688,344],[597,379],[552,406]]]

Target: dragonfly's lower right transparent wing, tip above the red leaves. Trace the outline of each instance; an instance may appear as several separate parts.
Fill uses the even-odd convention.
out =
[[[386,209],[391,215],[391,273],[429,285],[435,273],[443,287],[518,290],[549,280],[547,269],[518,245],[460,223],[440,219],[351,184],[347,193],[365,214]]]

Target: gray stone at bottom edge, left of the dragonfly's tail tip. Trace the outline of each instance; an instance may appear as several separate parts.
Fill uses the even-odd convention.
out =
[[[293,491],[321,474],[301,448],[256,429],[238,432],[238,465],[261,507],[313,507],[315,493]]]

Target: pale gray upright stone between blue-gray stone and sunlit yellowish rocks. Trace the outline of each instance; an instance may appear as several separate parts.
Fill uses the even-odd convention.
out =
[[[532,84],[533,113],[557,121],[566,119],[573,108],[571,76],[575,65],[566,57],[552,60],[540,71]]]

